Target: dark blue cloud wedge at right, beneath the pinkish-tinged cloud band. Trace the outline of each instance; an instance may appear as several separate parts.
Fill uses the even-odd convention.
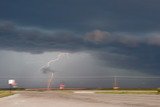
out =
[[[159,47],[142,45],[136,48],[114,47],[109,52],[98,51],[94,56],[110,67],[159,75],[159,54]]]

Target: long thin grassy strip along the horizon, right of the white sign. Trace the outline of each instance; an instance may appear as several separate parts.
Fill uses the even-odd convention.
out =
[[[39,91],[45,92],[46,89],[26,89],[26,91]],[[51,89],[50,91],[56,92],[69,92],[69,93],[97,93],[97,94],[159,94],[160,89]]]

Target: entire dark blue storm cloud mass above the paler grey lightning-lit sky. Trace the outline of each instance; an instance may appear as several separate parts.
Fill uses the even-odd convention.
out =
[[[159,4],[159,0],[1,0],[0,48],[30,53],[89,50],[110,66],[158,74]]]

